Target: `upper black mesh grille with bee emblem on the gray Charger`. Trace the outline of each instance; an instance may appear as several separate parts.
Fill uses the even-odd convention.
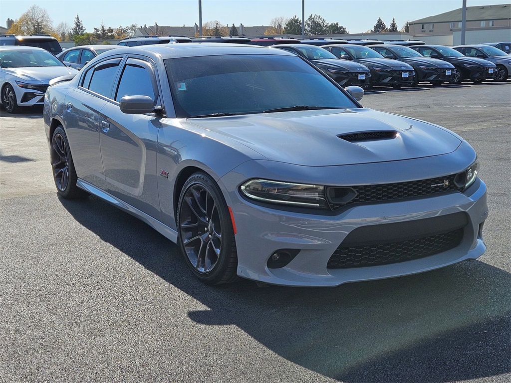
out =
[[[355,190],[356,196],[351,201],[346,203],[334,202],[331,206],[333,209],[338,209],[340,207],[357,203],[381,202],[411,197],[431,196],[451,191],[461,192],[462,187],[458,187],[454,183],[455,177],[456,175],[453,174],[445,177],[428,178],[417,181],[349,186]],[[336,189],[343,190],[345,188],[346,187],[342,186],[331,186],[329,187],[329,190],[332,194],[336,194]],[[340,194],[342,194],[342,192]]]

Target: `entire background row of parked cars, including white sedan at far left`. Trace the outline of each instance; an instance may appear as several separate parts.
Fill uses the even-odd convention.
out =
[[[401,88],[417,86],[421,82],[439,86],[445,82],[459,84],[463,80],[478,84],[486,79],[506,81],[511,74],[511,56],[498,49],[498,44],[510,49],[511,43],[451,48],[415,40],[145,36],[128,38],[118,45],[84,45],[62,51],[58,41],[48,35],[0,35],[0,45],[6,45],[0,46],[2,104],[9,113],[22,106],[42,104],[44,91],[52,78],[72,74],[73,70],[80,70],[106,51],[121,46],[182,42],[241,43],[289,51],[308,60],[343,87]],[[13,50],[12,45],[18,45],[20,50]],[[32,50],[22,50],[24,45]],[[38,49],[52,55],[45,55]]]

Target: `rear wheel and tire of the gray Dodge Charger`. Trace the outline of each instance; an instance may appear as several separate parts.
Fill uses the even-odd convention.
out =
[[[69,149],[69,141],[62,125],[59,125],[53,132],[50,156],[57,193],[65,199],[88,196],[85,190],[76,185],[78,177],[73,164],[71,149]]]

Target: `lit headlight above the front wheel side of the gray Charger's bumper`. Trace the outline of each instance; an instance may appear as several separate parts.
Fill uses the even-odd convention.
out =
[[[250,180],[240,187],[241,193],[255,201],[297,207],[328,208],[324,186],[269,180]]]

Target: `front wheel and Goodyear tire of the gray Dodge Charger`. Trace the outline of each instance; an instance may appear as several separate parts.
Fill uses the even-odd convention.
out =
[[[233,223],[216,182],[194,173],[184,183],[177,206],[178,243],[187,266],[206,284],[238,279]]]

